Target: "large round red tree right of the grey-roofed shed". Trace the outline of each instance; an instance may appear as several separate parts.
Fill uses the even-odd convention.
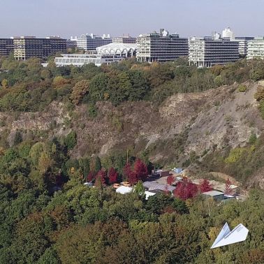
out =
[[[177,184],[176,189],[173,191],[173,195],[182,200],[186,200],[196,196],[197,192],[198,192],[198,188],[196,184],[193,184],[190,179],[184,177],[182,179],[182,182],[179,182]]]

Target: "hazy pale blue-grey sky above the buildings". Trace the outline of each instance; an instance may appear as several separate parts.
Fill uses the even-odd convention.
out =
[[[160,28],[208,36],[228,26],[235,36],[264,35],[264,0],[0,0],[0,7],[0,37],[138,36]]]

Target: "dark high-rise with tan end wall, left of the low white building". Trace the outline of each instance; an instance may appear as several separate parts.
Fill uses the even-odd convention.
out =
[[[47,59],[57,52],[66,52],[66,39],[57,36],[36,38],[35,36],[13,37],[15,59],[29,59],[38,57]]]

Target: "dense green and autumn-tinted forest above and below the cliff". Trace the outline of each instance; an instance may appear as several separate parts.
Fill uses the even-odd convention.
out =
[[[47,68],[38,59],[1,59],[0,111],[43,111],[52,101],[68,110],[86,104],[96,116],[96,102],[151,101],[214,89],[234,82],[264,79],[264,62],[240,60],[198,69],[185,59],[166,64],[138,64],[133,59],[110,66]],[[243,91],[244,87],[239,87]],[[264,112],[264,89],[256,94]],[[4,126],[4,124],[1,124]],[[244,202],[216,204],[196,196],[159,193],[145,200],[140,191],[122,196],[109,186],[136,183],[159,166],[147,153],[96,154],[74,159],[76,133],[48,138],[41,131],[12,140],[0,135],[0,263],[264,263],[264,193],[251,189]],[[10,143],[11,142],[11,143]],[[222,168],[248,177],[263,166],[263,135],[249,145],[205,156],[199,166]],[[195,157],[189,163],[198,163]],[[84,186],[93,181],[95,188]],[[249,228],[245,242],[210,247],[225,222]]]

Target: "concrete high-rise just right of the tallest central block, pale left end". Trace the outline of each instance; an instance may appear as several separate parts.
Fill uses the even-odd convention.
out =
[[[212,37],[192,37],[189,39],[190,65],[212,67],[217,64],[237,61],[239,57],[237,41]]]

